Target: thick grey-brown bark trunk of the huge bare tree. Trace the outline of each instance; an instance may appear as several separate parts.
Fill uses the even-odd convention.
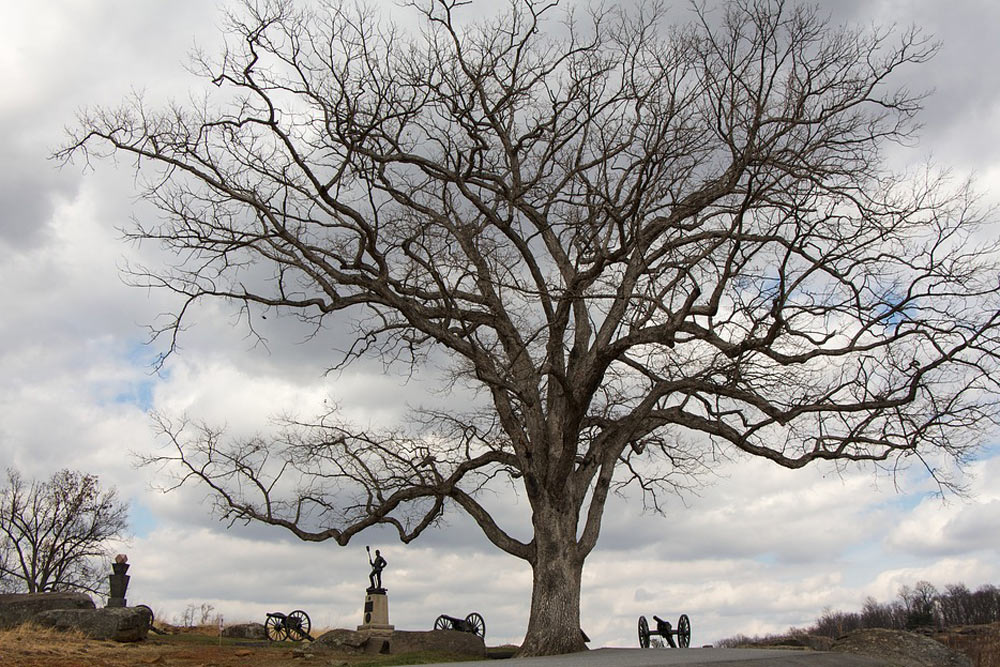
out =
[[[587,650],[580,632],[583,558],[576,544],[576,516],[535,511],[531,616],[519,656]]]

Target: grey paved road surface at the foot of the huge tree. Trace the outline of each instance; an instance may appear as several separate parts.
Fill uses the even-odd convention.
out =
[[[450,662],[423,667],[886,667],[874,658],[845,653],[814,653],[780,649],[692,648],[637,649],[601,648],[584,653],[547,658],[513,658],[490,662]]]

